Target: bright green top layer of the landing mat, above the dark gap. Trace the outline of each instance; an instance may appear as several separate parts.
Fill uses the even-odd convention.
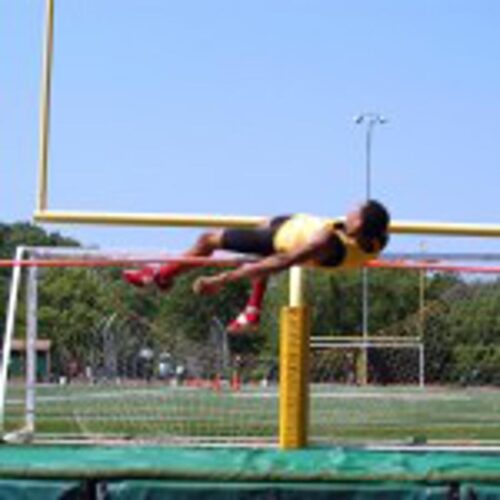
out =
[[[500,453],[4,445],[0,478],[500,483]]]

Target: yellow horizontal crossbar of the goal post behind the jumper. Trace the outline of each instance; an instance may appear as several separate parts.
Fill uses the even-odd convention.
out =
[[[146,227],[240,227],[252,228],[266,221],[262,216],[203,215],[176,213],[91,212],[65,210],[36,210],[36,222],[57,224],[94,224]],[[333,218],[341,221],[343,218]],[[433,236],[500,237],[500,224],[394,221],[392,234]]]

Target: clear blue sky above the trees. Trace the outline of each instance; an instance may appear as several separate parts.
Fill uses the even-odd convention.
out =
[[[1,220],[34,208],[44,2],[0,0]],[[500,223],[500,2],[57,0],[54,209]],[[47,226],[104,247],[179,249],[186,229]],[[500,251],[393,238],[394,250]]]

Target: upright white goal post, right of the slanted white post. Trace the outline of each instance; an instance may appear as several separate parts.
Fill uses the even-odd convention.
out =
[[[38,309],[38,268],[28,269],[26,288],[26,430],[35,430],[36,339]]]

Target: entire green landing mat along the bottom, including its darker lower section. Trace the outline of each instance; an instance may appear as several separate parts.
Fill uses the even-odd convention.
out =
[[[0,499],[493,500],[500,453],[0,447]]]

